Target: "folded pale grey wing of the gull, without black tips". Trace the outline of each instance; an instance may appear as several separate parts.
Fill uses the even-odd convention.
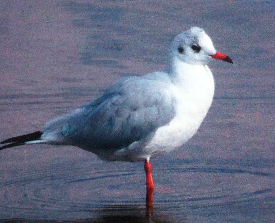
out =
[[[103,96],[50,122],[43,132],[55,129],[67,144],[82,148],[127,147],[174,118],[176,102],[168,86],[165,78],[121,79]]]

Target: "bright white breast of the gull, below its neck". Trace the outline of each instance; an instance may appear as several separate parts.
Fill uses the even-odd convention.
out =
[[[155,143],[152,146],[163,147],[164,150],[182,145],[196,133],[212,103],[212,73],[208,67],[203,67],[200,73],[190,72],[189,76],[178,80],[171,91],[177,101],[176,115],[169,124],[157,130],[151,142]]]

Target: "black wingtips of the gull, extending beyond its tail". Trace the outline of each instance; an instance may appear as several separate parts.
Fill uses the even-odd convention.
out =
[[[6,139],[6,140],[2,141],[0,144],[5,144],[5,143],[10,143],[10,144],[1,146],[0,150],[10,148],[10,147],[14,147],[14,146],[18,146],[18,145],[24,145],[25,142],[40,139],[42,134],[43,133],[41,131],[37,131],[37,132],[29,133],[29,134],[26,134],[26,135],[20,135],[20,136],[16,136],[16,137]]]

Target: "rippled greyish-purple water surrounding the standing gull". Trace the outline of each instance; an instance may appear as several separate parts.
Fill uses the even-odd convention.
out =
[[[203,27],[234,64],[197,134],[153,160],[104,162],[70,146],[0,151],[0,219],[275,222],[274,1],[2,1],[0,139],[37,131],[125,75],[165,68],[169,43]]]

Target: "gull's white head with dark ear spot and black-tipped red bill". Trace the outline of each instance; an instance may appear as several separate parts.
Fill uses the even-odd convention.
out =
[[[195,26],[175,37],[170,55],[194,65],[206,65],[212,58],[233,63],[228,56],[215,50],[212,40],[203,29]]]

